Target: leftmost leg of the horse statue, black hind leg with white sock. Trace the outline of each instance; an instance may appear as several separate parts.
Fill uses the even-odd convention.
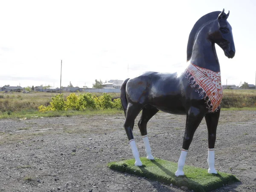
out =
[[[129,144],[131,146],[131,151],[135,159],[135,163],[134,163],[135,166],[142,166],[142,162],[140,160],[140,154],[137,149],[134,136],[132,133],[132,130],[134,127],[134,120],[136,119],[137,115],[140,113],[141,109],[142,107],[140,105],[128,103],[126,116],[125,116],[125,124],[124,124],[125,132],[127,134]]]

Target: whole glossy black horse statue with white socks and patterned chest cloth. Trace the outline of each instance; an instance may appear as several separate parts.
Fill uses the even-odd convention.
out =
[[[142,110],[138,123],[147,159],[154,160],[147,136],[147,122],[159,110],[172,114],[186,114],[186,128],[176,176],[184,175],[183,166],[195,130],[205,118],[208,129],[208,173],[217,174],[214,163],[216,128],[222,100],[221,73],[215,43],[228,58],[235,56],[229,13],[216,11],[201,17],[193,26],[187,45],[186,70],[177,73],[146,72],[126,79],[121,86],[121,102],[125,112],[124,128],[135,158],[135,166],[142,166],[132,133],[134,119]]]

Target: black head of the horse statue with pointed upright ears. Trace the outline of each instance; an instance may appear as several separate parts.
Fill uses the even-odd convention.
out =
[[[218,15],[215,20],[215,25],[209,31],[209,40],[218,44],[224,51],[227,58],[233,58],[236,53],[235,44],[233,40],[232,27],[228,23],[227,18],[229,16],[223,11]]]

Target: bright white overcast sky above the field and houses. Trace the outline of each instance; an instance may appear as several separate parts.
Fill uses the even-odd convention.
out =
[[[236,55],[216,45],[222,84],[255,84],[254,0],[0,0],[0,86],[59,87],[61,59],[62,86],[179,71],[192,26],[223,8]]]

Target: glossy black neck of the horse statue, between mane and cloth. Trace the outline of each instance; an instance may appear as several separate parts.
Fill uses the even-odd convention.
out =
[[[208,29],[208,30],[207,30]],[[190,62],[215,72],[220,72],[220,64],[215,49],[215,43],[207,39],[208,27],[204,27],[199,32],[192,49],[192,56]]]

